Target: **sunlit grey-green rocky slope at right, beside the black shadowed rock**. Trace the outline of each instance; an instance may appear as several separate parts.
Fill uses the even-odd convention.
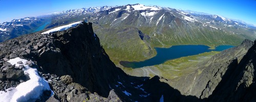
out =
[[[244,40],[241,45],[212,56],[209,60],[195,65],[195,69],[198,69],[195,72],[177,78],[179,81],[172,82],[172,86],[184,95],[194,95],[201,99],[208,97],[222,80],[225,72],[234,63],[240,62],[252,45],[252,41]]]

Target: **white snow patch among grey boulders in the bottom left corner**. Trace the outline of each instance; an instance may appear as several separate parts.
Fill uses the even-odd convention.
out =
[[[18,61],[22,61],[23,64],[17,64]],[[19,57],[10,59],[8,61],[12,65],[15,64],[15,66],[24,65],[24,74],[28,75],[30,80],[20,83],[15,88],[6,89],[7,92],[0,91],[1,102],[35,101],[45,90],[52,91],[48,82],[38,75],[36,69],[29,67],[29,65],[26,64],[27,61],[28,60],[21,59]],[[53,95],[53,91],[51,95]]]

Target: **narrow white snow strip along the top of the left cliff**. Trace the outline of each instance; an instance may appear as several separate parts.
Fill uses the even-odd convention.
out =
[[[53,28],[51,30],[42,32],[41,34],[49,34],[51,32],[67,30],[67,29],[69,29],[71,27],[75,27],[76,25],[81,24],[81,23],[82,23],[82,21],[79,21],[79,22],[74,22],[74,23],[68,24],[68,25],[59,26],[59,27]]]

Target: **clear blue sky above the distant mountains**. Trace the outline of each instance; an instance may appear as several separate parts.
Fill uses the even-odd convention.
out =
[[[217,14],[256,25],[256,0],[0,0],[0,23],[69,9],[137,3]]]

